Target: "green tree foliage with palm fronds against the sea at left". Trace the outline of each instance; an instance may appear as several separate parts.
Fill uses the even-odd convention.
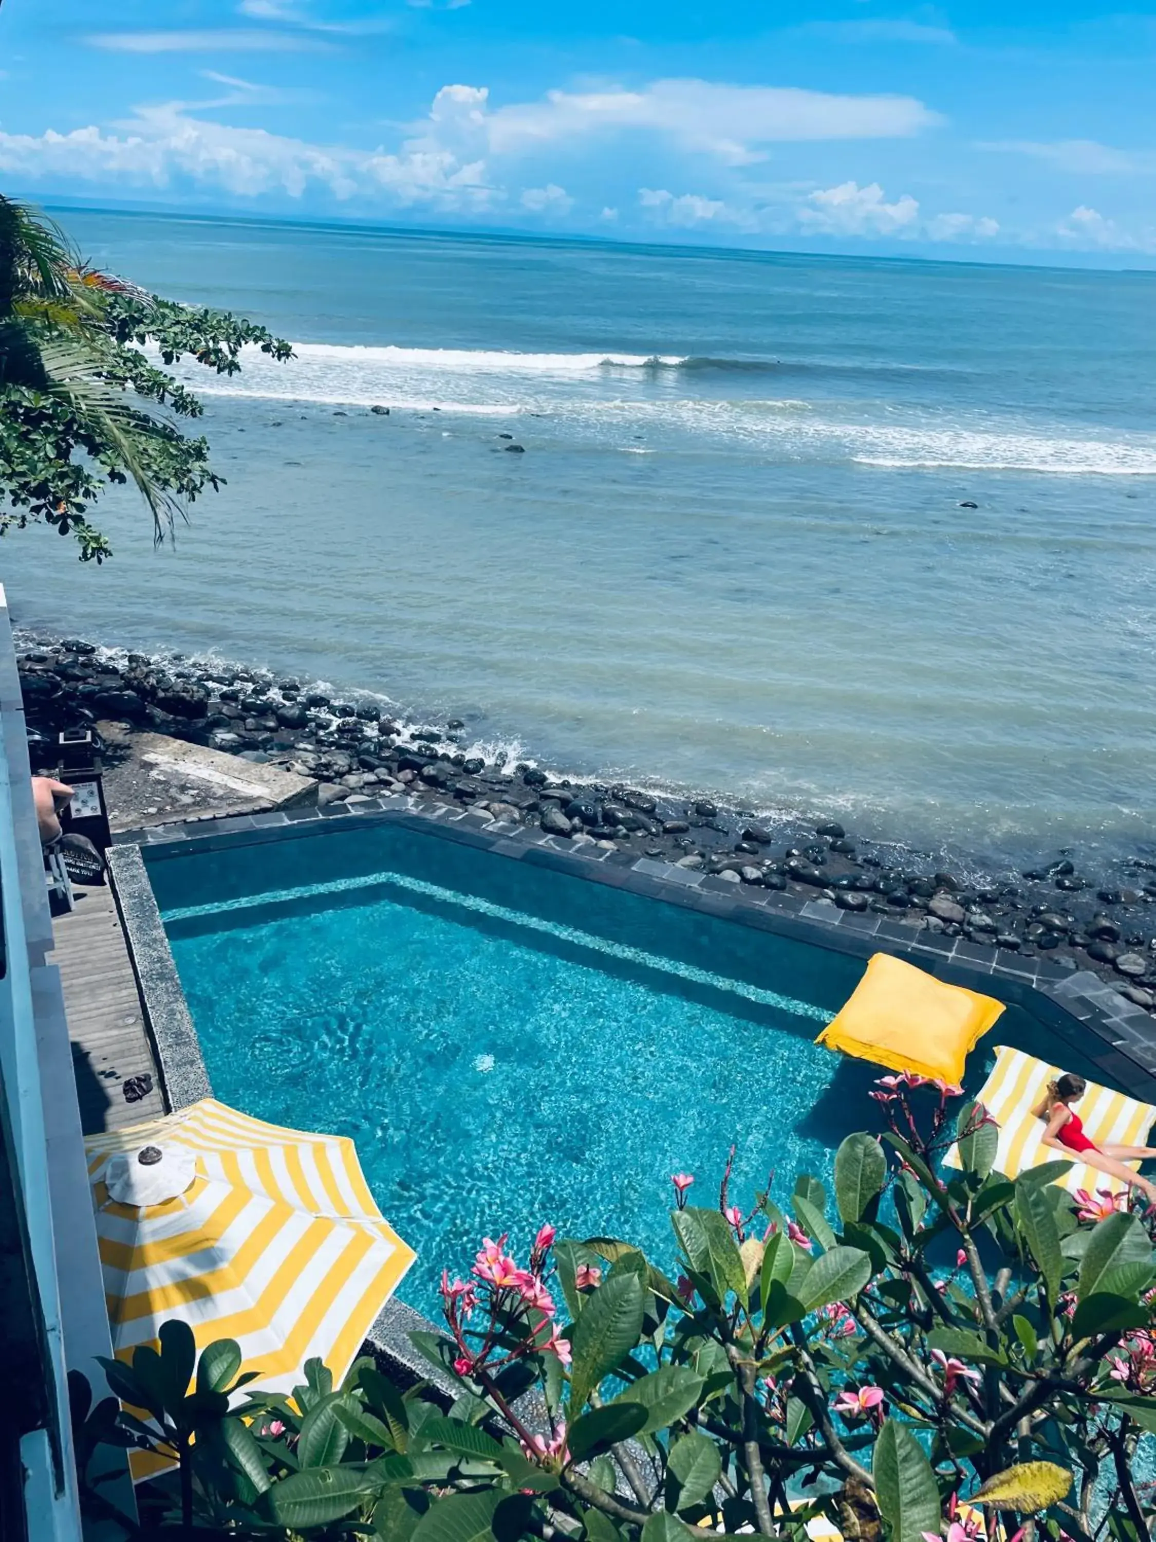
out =
[[[265,327],[97,271],[52,221],[0,196],[0,535],[51,524],[100,563],[111,547],[86,510],[131,481],[163,538],[223,478],[208,443],[177,427],[200,402],[160,364],[236,375],[245,344],[291,356]]]

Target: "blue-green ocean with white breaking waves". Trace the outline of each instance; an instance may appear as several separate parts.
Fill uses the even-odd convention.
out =
[[[983,865],[1156,856],[1156,274],[60,217],[297,356],[182,372],[228,486],[174,547],[126,492],[100,569],[8,537],[26,626]]]

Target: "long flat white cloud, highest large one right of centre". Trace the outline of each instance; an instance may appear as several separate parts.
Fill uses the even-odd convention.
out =
[[[655,80],[638,91],[550,91],[489,116],[490,146],[518,153],[586,134],[650,131],[731,165],[763,160],[757,146],[789,140],[894,139],[942,122],[914,97],[832,96],[794,86]]]

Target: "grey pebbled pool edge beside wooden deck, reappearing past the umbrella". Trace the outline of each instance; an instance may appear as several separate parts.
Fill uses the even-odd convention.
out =
[[[193,1103],[200,1103],[202,1098],[213,1096],[200,1039],[185,1001],[140,845],[117,842],[108,851],[108,865],[128,941],[128,954],[145,1007],[145,1024],[153,1038],[165,1109],[168,1113],[177,1113]],[[365,1345],[402,1386],[416,1386],[422,1380],[433,1382],[449,1408],[458,1396],[458,1388],[413,1348],[410,1334],[418,1331],[438,1332],[438,1328],[395,1295],[378,1314],[365,1335]]]

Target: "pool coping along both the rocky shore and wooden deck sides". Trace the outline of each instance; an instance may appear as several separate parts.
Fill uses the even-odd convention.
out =
[[[170,1062],[174,1067],[174,1092],[183,1099],[176,1107],[196,1101],[196,1096],[208,1096],[208,1092],[196,1096],[183,1092],[185,1087],[208,1087],[208,1076],[153,899],[143,848],[160,854],[159,848],[173,847],[176,854],[188,842],[207,850],[257,845],[319,836],[330,830],[351,830],[359,822],[399,825],[415,833],[435,834],[475,850],[661,899],[854,958],[891,953],[948,984],[988,992],[1008,1005],[1022,1007],[1060,1036],[1064,1030],[1070,1036],[1091,1035],[1096,1042],[1087,1049],[1087,1058],[1110,1081],[1121,1082],[1131,1096],[1156,1103],[1156,1024],[1147,1012],[1090,970],[1065,968],[1045,958],[1022,958],[965,938],[917,930],[917,922],[842,910],[823,897],[806,899],[735,884],[670,862],[640,857],[632,851],[604,850],[595,842],[578,843],[546,834],[536,827],[495,820],[459,803],[393,794],[356,805],[330,803],[324,808],[302,806],[150,825],[113,837],[109,862],[117,887],[125,884],[134,896],[122,901],[129,951],[136,954],[139,936],[145,962],[137,964],[137,978],[156,1039],[160,1075],[166,1084]],[[136,851],[136,860],[128,856],[129,851]],[[146,897],[140,896],[142,884]],[[922,911],[917,914],[922,922]],[[156,1012],[151,992],[157,993]]]

